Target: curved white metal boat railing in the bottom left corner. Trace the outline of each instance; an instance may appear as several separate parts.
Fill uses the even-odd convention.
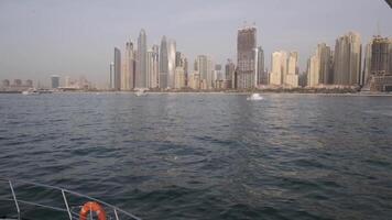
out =
[[[132,219],[132,220],[141,220],[140,218],[135,217],[132,213],[129,213],[118,207],[115,207],[110,204],[107,204],[102,200],[76,193],[76,191],[72,191],[68,189],[63,189],[56,186],[50,186],[50,185],[45,185],[45,184],[37,184],[37,183],[33,183],[33,182],[25,182],[25,180],[9,180],[9,179],[3,179],[0,178],[0,182],[4,183],[6,185],[8,184],[10,187],[10,195],[12,196],[11,198],[0,198],[0,200],[2,201],[8,201],[8,202],[13,202],[14,207],[17,209],[18,216],[17,219],[21,220],[22,218],[22,210],[20,205],[26,205],[26,206],[32,206],[32,207],[36,207],[36,208],[42,208],[42,209],[47,209],[47,210],[52,210],[52,211],[56,211],[56,212],[63,212],[63,213],[67,213],[69,220],[78,220],[79,219],[79,213],[78,210],[80,210],[83,204],[79,204],[76,207],[72,207],[69,206],[69,200],[67,198],[67,196],[75,196],[78,197],[81,200],[85,201],[96,201],[100,205],[102,205],[105,207],[106,213],[107,213],[107,219],[111,220],[120,220],[123,218],[119,218],[124,217],[124,219]],[[64,207],[55,207],[55,206],[48,206],[48,205],[44,205],[44,204],[40,204],[36,201],[28,201],[28,200],[23,200],[23,199],[19,199],[18,197],[18,191],[15,190],[14,186],[15,184],[23,184],[30,187],[42,187],[44,189],[51,189],[51,190],[55,190],[55,191],[61,191],[62,197],[63,197],[63,202],[64,202]],[[17,191],[17,193],[15,193]],[[74,209],[77,209],[76,211]],[[1,217],[0,217],[1,218]],[[92,219],[92,213],[89,215],[89,218]],[[52,218],[52,219],[57,219],[57,218]]]

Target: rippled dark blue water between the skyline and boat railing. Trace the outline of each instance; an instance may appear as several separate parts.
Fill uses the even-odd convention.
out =
[[[392,219],[392,97],[264,98],[1,95],[0,175],[143,219]]]

